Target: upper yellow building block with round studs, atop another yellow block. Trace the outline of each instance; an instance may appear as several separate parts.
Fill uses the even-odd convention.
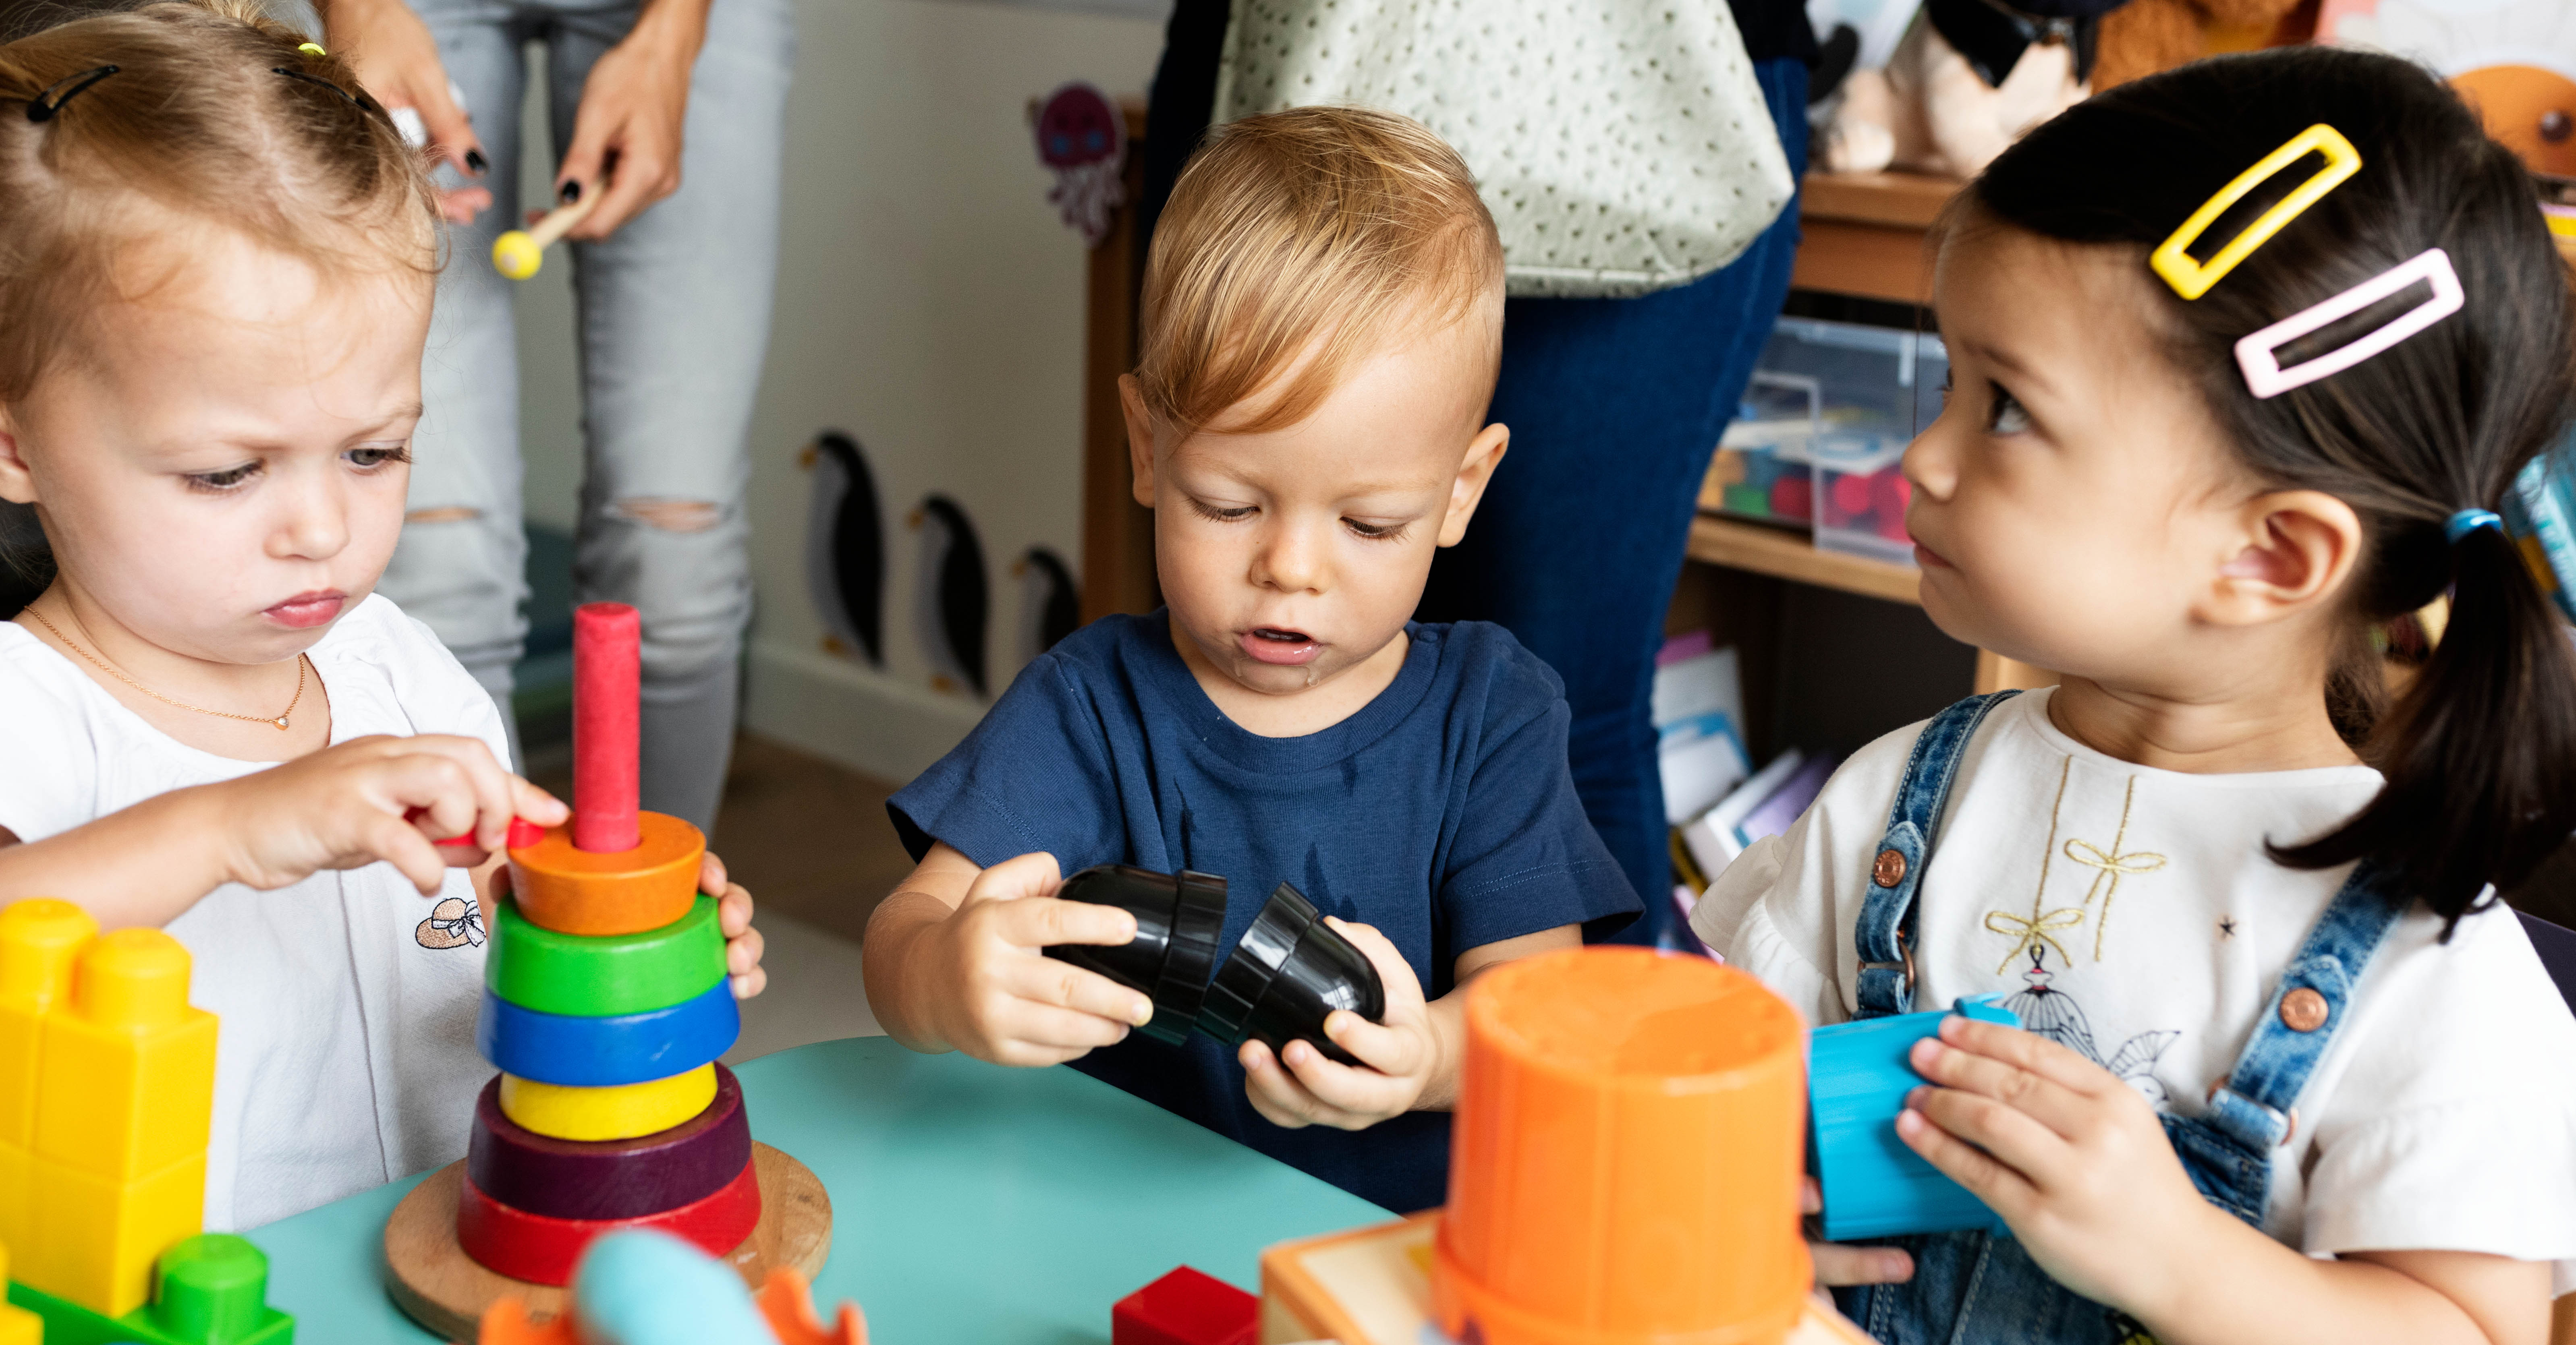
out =
[[[188,948],[160,930],[90,940],[72,964],[70,1002],[44,1015],[39,1172],[52,1162],[113,1185],[188,1157],[204,1167],[211,1121],[214,1015],[188,1007]]]

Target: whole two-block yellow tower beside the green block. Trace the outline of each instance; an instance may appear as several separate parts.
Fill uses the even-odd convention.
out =
[[[18,1283],[103,1317],[152,1299],[152,1263],[198,1232],[214,1118],[214,1015],[188,1007],[188,951],[162,930],[80,948],[44,1015]]]

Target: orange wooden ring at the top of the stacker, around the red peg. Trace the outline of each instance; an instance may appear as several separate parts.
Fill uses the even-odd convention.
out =
[[[531,925],[569,935],[659,930],[698,897],[706,835],[688,822],[639,812],[634,850],[595,855],[572,845],[572,827],[546,827],[536,845],[510,850],[510,897]]]

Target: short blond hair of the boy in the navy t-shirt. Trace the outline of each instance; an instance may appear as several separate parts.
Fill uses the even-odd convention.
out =
[[[1190,435],[1265,392],[1226,430],[1275,430],[1399,327],[1486,309],[1499,368],[1502,240],[1440,137],[1365,108],[1247,116],[1211,134],[1154,227],[1136,384],[1164,433]]]

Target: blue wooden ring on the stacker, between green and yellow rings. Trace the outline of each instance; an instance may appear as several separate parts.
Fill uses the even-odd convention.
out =
[[[742,1033],[732,982],[652,1013],[574,1018],[513,1005],[484,989],[474,1046],[502,1074],[564,1085],[618,1087],[685,1074],[721,1056]]]

